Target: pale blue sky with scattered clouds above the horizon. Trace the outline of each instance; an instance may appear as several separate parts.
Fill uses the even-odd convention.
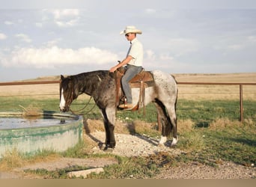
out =
[[[0,1],[0,82],[109,70],[141,29],[144,69],[256,72],[255,1]]]

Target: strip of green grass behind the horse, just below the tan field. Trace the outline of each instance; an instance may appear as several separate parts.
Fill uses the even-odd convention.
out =
[[[33,106],[41,110],[58,111],[58,99],[31,99],[28,97],[0,97],[0,111],[23,111],[23,108]],[[70,108],[77,114],[85,114],[86,118],[101,119],[100,110],[94,106],[94,101],[88,103],[88,100],[77,99],[73,101]],[[245,119],[256,120],[256,101],[243,101],[243,116]],[[88,112],[89,111],[89,112]],[[133,120],[144,120],[146,122],[156,122],[156,108],[152,103],[147,105],[146,113],[143,109],[139,111],[118,111],[117,117],[124,122],[132,122]],[[229,120],[240,119],[240,103],[239,100],[211,100],[211,101],[191,101],[179,99],[177,102],[177,117],[179,120],[192,120],[198,126],[207,126],[216,118],[228,118]]]

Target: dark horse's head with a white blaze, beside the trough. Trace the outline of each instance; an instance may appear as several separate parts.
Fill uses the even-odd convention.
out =
[[[73,99],[77,98],[73,79],[70,76],[61,76],[60,82],[60,110],[69,111]]]

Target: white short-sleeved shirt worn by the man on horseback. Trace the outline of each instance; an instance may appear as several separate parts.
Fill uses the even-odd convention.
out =
[[[135,37],[131,41],[131,46],[127,52],[127,56],[132,56],[132,60],[128,64],[141,67],[143,63],[143,46],[140,41]]]

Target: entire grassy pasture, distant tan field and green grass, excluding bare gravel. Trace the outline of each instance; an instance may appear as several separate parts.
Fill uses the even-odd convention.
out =
[[[256,82],[256,73],[244,74],[179,74],[175,75],[179,82]],[[73,102],[73,110],[82,108],[89,99],[88,96],[79,96]],[[168,156],[165,153],[147,158],[119,157],[119,165],[106,168],[100,175],[91,175],[91,178],[115,177],[153,177],[160,168],[170,165],[175,167],[183,162],[200,162],[216,167],[219,162],[229,161],[251,167],[256,160],[256,86],[244,88],[244,123],[239,122],[239,88],[237,86],[207,86],[207,85],[180,85],[177,101],[178,134],[177,148],[184,151],[179,156]],[[23,111],[24,108],[38,108],[41,110],[58,111],[59,95],[58,84],[54,85],[26,85],[1,86],[0,111]],[[91,101],[85,112],[94,106]],[[100,111],[95,107],[85,119],[101,120]],[[136,129],[136,133],[149,136],[160,135],[156,126],[156,110],[154,105],[148,105],[146,115],[142,111],[118,111],[118,121],[132,123],[134,120],[143,120],[151,126]],[[116,129],[118,132],[119,129]],[[86,144],[81,143],[61,156],[88,157]],[[45,155],[46,154],[46,155]],[[43,158],[56,155],[44,153],[34,156]],[[18,156],[20,160],[28,160]],[[19,159],[5,156],[0,161],[0,168],[10,160],[19,164]],[[10,162],[10,163],[13,163]],[[20,161],[21,162],[21,161]],[[164,164],[163,164],[164,163]],[[6,167],[6,166],[5,166]],[[10,166],[10,168],[13,166]],[[39,171],[40,172],[40,171]],[[43,171],[42,171],[43,172]],[[124,172],[124,173],[121,173]],[[59,174],[53,178],[65,178]]]

